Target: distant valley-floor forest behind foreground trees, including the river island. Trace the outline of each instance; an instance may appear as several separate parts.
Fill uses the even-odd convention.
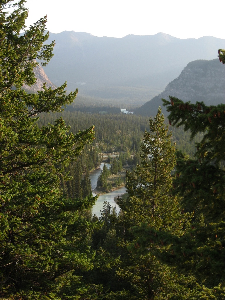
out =
[[[69,107],[70,108],[70,107]],[[54,119],[60,118],[61,116],[65,120],[66,124],[70,124],[70,131],[76,134],[77,131],[83,130],[95,125],[95,139],[91,145],[86,145],[82,151],[81,156],[76,162],[71,162],[67,171],[70,176],[73,177],[72,181],[64,184],[64,193],[68,196],[71,193],[78,195],[76,192],[79,182],[83,188],[82,176],[87,172],[98,167],[101,162],[101,154],[112,154],[116,153],[121,162],[119,172],[112,171],[111,168],[115,165],[115,162],[111,162],[111,168],[109,172],[104,172],[104,180],[98,183],[98,191],[105,192],[112,190],[112,188],[120,187],[125,184],[125,174],[118,174],[119,176],[114,177],[111,180],[107,180],[111,174],[120,173],[122,166],[127,165],[135,168],[141,161],[141,148],[140,144],[143,140],[143,134],[146,129],[149,128],[149,118],[140,115],[124,114],[124,113],[84,113],[65,109],[61,114],[44,114],[40,116],[38,125],[43,126],[48,123],[54,123]],[[165,120],[168,124],[168,121]],[[169,130],[173,131],[172,142],[176,143],[176,149],[182,150],[190,157],[193,157],[195,153],[195,142],[190,141],[190,133],[185,132],[182,128],[172,128],[169,125]],[[195,141],[200,141],[201,134],[197,134]],[[77,172],[78,164],[82,172]],[[117,167],[118,169],[118,167]],[[86,175],[85,175],[86,176]],[[104,181],[104,183],[103,183]],[[103,188],[101,188],[103,187]],[[67,191],[69,188],[70,193]],[[71,191],[73,190],[73,192]],[[76,189],[76,190],[75,190]],[[90,188],[89,188],[90,189]]]

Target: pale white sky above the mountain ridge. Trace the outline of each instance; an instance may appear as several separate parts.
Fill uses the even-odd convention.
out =
[[[164,32],[177,38],[225,38],[221,1],[27,0],[30,25],[47,14],[47,29],[121,38]]]

